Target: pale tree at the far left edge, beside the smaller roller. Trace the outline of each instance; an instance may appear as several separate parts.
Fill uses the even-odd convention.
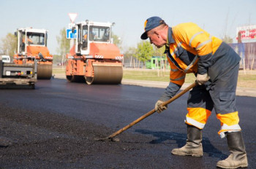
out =
[[[17,37],[14,34],[8,33],[5,38],[1,39],[1,52],[5,55],[13,56],[17,49]]]

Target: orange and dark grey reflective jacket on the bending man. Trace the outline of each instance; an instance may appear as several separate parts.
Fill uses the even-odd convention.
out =
[[[212,63],[212,55],[222,40],[210,36],[195,23],[181,23],[169,28],[166,49],[170,63],[170,82],[184,84],[187,73],[206,74]]]

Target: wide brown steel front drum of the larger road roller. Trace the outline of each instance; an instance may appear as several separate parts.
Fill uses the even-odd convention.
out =
[[[94,77],[86,76],[87,84],[121,84],[122,66],[93,66]]]

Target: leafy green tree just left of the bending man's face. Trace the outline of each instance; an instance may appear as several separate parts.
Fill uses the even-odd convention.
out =
[[[145,61],[150,60],[154,54],[153,46],[148,41],[142,41],[138,43],[138,60],[142,61],[145,65]]]

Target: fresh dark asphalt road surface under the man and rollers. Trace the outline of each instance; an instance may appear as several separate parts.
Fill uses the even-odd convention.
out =
[[[229,152],[211,114],[203,130],[203,157],[170,154],[186,144],[187,93],[117,137],[95,141],[154,109],[164,91],[132,85],[86,85],[39,80],[35,90],[0,90],[0,168],[216,168]],[[249,160],[256,168],[256,98],[237,97]]]

